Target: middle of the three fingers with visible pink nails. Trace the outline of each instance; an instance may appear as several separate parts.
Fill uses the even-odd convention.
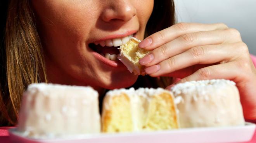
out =
[[[149,67],[180,54],[191,47],[241,41],[240,36],[237,36],[240,33],[237,32],[237,34],[234,34],[234,31],[233,29],[227,29],[184,34],[177,39],[152,50],[147,56],[140,59],[139,63]]]

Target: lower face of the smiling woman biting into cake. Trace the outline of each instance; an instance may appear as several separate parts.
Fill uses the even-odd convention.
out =
[[[144,38],[154,0],[31,2],[50,82],[114,89],[131,86],[137,80],[119,60],[114,60],[114,54],[118,54],[114,46],[120,45],[123,37],[125,42],[129,35]],[[105,57],[107,53],[113,61]]]

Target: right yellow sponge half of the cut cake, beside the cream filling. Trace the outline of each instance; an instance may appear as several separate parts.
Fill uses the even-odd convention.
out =
[[[171,130],[179,128],[173,95],[162,88],[139,88],[137,95],[147,98],[143,130]],[[146,95],[146,96],[145,96]]]

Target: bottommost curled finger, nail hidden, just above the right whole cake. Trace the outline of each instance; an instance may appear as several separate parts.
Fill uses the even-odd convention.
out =
[[[207,79],[230,79],[235,81],[235,78],[238,77],[238,75],[240,74],[242,73],[239,69],[237,69],[236,64],[234,64],[234,62],[228,62],[225,64],[218,64],[199,69],[194,74],[191,74],[190,76],[183,78],[177,83]]]

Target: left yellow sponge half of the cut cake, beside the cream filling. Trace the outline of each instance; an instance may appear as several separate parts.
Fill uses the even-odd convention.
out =
[[[131,98],[133,88],[114,89],[106,93],[102,104],[102,132],[132,131]]]

